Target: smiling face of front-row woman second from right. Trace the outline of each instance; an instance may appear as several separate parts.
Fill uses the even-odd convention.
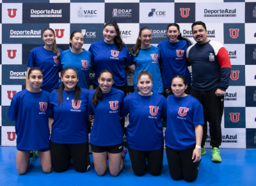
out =
[[[142,75],[140,80],[137,82],[137,87],[139,88],[139,94],[141,96],[150,96],[152,94],[151,89],[153,86],[152,80],[148,75]]]

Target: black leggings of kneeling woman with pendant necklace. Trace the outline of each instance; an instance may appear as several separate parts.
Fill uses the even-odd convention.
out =
[[[54,171],[62,173],[67,171],[70,159],[74,169],[84,173],[90,167],[89,143],[60,144],[50,141],[51,159]]]

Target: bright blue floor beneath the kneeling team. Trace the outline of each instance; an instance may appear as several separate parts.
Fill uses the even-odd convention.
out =
[[[221,163],[211,161],[211,149],[202,156],[198,178],[195,182],[174,181],[170,177],[166,154],[164,153],[163,171],[160,176],[135,176],[129,154],[119,176],[113,177],[107,171],[104,176],[97,176],[93,168],[86,173],[77,173],[72,164],[64,173],[45,174],[39,158],[31,161],[26,175],[18,175],[15,165],[16,147],[0,147],[0,185],[256,185],[256,149],[220,149]]]

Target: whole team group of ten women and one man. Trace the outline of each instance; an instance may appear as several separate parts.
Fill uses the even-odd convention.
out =
[[[88,132],[99,176],[124,167],[124,117],[129,113],[127,145],[135,175],[163,169],[166,157],[173,180],[193,182],[198,175],[209,122],[212,161],[221,162],[221,117],[231,64],[227,50],[207,39],[204,22],[192,24],[192,44],[178,24],[167,27],[168,40],[150,45],[152,31],[142,27],[130,50],[115,21],[103,28],[101,41],[84,50],[83,34],[70,35],[70,49],[57,48],[55,33],[42,32],[44,45],[31,50],[26,90],[13,96],[8,118],[15,121],[17,171],[26,173],[30,151],[38,151],[45,173],[90,168]],[[192,66],[191,81],[188,66]],[[134,71],[135,92],[127,96],[125,66]],[[95,71],[92,92],[89,69]],[[58,73],[63,71],[59,82]],[[94,113],[91,124],[87,116]],[[49,134],[51,138],[49,140]]]

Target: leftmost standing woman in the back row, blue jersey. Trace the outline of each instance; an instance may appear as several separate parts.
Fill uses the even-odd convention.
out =
[[[59,57],[62,50],[57,48],[55,32],[51,28],[44,29],[42,38],[44,45],[31,50],[27,66],[28,71],[34,66],[42,69],[44,73],[44,82],[41,89],[47,92],[52,92],[52,90],[58,87],[59,83]],[[28,88],[29,83],[27,76],[26,89]]]

